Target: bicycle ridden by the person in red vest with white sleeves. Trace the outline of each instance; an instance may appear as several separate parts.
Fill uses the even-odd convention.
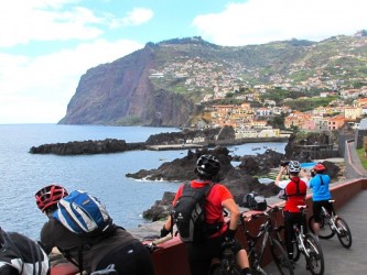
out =
[[[306,215],[306,206],[298,206],[303,217]],[[325,271],[324,254],[320,242],[313,233],[304,233],[303,224],[293,224],[293,261],[299,261],[301,254],[304,255],[306,268],[313,275],[322,275]],[[280,238],[280,234],[278,234]]]

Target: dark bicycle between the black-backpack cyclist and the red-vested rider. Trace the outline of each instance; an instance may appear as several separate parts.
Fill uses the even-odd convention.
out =
[[[244,233],[246,235],[246,240],[248,243],[247,254],[250,263],[250,268],[253,274],[262,274],[267,275],[267,273],[261,267],[261,263],[263,260],[263,255],[266,252],[267,244],[269,244],[270,252],[272,258],[277,265],[280,274],[290,274],[293,275],[293,265],[291,261],[288,258],[288,254],[279,240],[273,237],[273,232],[278,230],[277,221],[271,213],[279,211],[278,207],[272,207],[269,210],[265,210],[260,213],[253,213],[250,216],[251,219],[256,219],[259,217],[265,217],[266,220],[259,228],[259,232],[257,235],[250,234],[248,230],[245,228],[245,216],[241,215],[240,226],[244,229]],[[260,250],[258,250],[258,242],[262,239]]]

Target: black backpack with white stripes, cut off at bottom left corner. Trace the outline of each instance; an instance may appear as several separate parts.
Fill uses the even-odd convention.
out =
[[[10,270],[20,275],[46,275],[48,257],[37,242],[17,232],[7,233],[0,228],[0,274],[8,274]]]

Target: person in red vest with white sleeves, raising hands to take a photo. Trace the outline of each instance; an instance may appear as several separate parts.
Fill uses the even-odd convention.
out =
[[[289,173],[289,178],[282,180],[282,176],[287,172]],[[307,231],[305,217],[302,217],[298,208],[298,206],[305,206],[306,204],[307,183],[307,177],[298,161],[290,161],[288,165],[282,165],[276,178],[276,185],[284,189],[287,198],[284,206],[284,239],[288,257],[291,261],[293,261],[293,224],[302,224],[304,232]]]

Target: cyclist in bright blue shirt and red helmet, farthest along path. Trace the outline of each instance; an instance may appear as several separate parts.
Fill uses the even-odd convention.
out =
[[[325,170],[326,167],[322,163],[317,163],[311,172],[312,178],[310,179],[309,185],[309,187],[312,188],[312,210],[314,215],[314,223],[312,224],[312,228],[317,238],[322,207],[325,207],[328,212],[333,212],[335,215],[334,207],[328,201],[332,199],[332,194],[328,189],[331,178],[327,174],[325,174]]]

